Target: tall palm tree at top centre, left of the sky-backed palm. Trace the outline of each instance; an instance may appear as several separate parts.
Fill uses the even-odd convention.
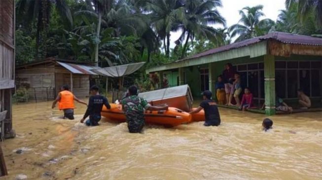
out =
[[[158,38],[163,40],[166,56],[170,55],[170,32],[177,30],[184,17],[184,0],[150,0],[147,9]]]

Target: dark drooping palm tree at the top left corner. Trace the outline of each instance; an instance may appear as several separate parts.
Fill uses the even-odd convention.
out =
[[[38,58],[40,32],[45,31],[44,36],[46,36],[53,6],[71,27],[72,14],[65,0],[18,0],[16,4],[17,16],[21,18],[18,18],[19,23],[29,26],[36,20],[36,59]]]

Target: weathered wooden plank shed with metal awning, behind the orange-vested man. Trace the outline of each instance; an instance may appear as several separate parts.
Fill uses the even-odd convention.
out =
[[[71,60],[49,58],[16,67],[17,86],[27,87],[31,99],[52,100],[63,85],[69,85],[77,97],[89,94],[91,69],[99,67]]]

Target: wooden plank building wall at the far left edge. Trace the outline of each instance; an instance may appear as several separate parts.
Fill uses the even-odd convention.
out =
[[[0,121],[1,138],[14,137],[12,130],[11,92],[14,88],[15,3],[0,0]],[[4,120],[4,121],[2,121]],[[3,132],[5,134],[3,134]]]

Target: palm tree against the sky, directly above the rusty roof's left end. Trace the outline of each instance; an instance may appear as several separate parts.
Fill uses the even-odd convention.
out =
[[[186,53],[189,39],[191,39],[191,42],[196,36],[213,42],[218,42],[222,39],[223,34],[209,26],[214,24],[225,26],[225,19],[216,9],[218,6],[221,6],[220,0],[186,0],[185,16],[182,20],[182,25],[179,26],[182,34],[176,41],[176,44],[181,44],[185,39],[181,58]]]

